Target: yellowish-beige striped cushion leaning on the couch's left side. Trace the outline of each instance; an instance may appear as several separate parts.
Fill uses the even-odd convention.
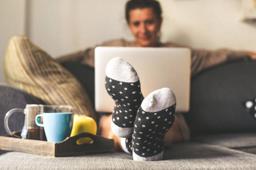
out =
[[[72,105],[75,114],[95,118],[89,97],[74,75],[27,37],[11,38],[4,69],[10,85],[52,105]]]

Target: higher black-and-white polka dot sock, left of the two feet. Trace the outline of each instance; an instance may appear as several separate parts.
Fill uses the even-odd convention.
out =
[[[120,138],[133,134],[133,123],[143,100],[141,83],[135,69],[120,57],[111,59],[106,67],[105,88],[115,100],[111,129]]]

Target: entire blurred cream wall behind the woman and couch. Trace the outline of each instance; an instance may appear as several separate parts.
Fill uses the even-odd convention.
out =
[[[126,0],[0,0],[0,82],[8,40],[26,35],[52,57],[104,41],[133,40],[124,15]],[[214,50],[256,51],[256,22],[242,22],[242,0],[159,0],[161,41]]]

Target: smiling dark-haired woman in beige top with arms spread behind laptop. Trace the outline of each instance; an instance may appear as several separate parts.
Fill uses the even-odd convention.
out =
[[[125,19],[128,27],[133,34],[135,41],[112,40],[103,43],[101,46],[124,46],[124,47],[185,47],[172,42],[161,43],[159,41],[159,32],[162,23],[161,7],[156,0],[129,0],[125,7]],[[227,49],[209,51],[192,51],[191,75],[195,76],[201,70],[207,67],[217,65],[228,60],[241,58],[256,58],[256,53],[246,51],[233,51]],[[57,59],[59,62],[80,62],[84,65],[94,67],[94,48],[64,56]],[[111,115],[102,117],[100,121],[101,135],[115,140],[115,147],[121,148],[120,138],[113,134],[110,128]],[[170,130],[167,131],[164,138],[164,145],[168,146],[172,142],[178,142],[189,139],[189,130],[182,117],[178,115]]]

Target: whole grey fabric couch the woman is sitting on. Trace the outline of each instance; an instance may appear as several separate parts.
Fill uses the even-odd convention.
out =
[[[72,72],[94,101],[94,70],[79,63],[62,63]],[[173,143],[164,149],[164,159],[155,162],[133,161],[124,152],[63,158],[49,158],[28,153],[1,151],[0,169],[256,169],[256,118],[245,108],[244,101],[256,96],[256,62],[237,60],[207,69],[191,80],[190,111],[184,114],[191,130],[191,140]],[[93,82],[93,81],[91,81]],[[10,85],[0,84],[0,121],[13,107],[28,103],[44,104]],[[19,130],[23,117],[12,124]],[[0,124],[0,135],[5,135]],[[6,152],[6,153],[5,153]]]

